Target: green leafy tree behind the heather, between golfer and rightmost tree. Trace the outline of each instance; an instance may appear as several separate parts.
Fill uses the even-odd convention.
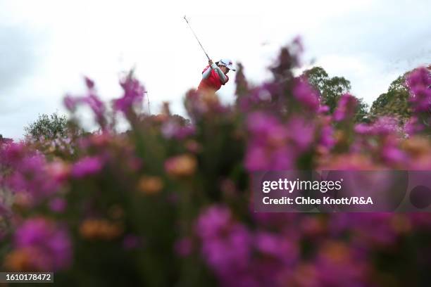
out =
[[[333,113],[342,94],[350,92],[350,81],[344,77],[330,77],[322,67],[313,67],[305,70],[304,76],[308,82],[320,93],[320,101],[330,108]],[[365,122],[368,118],[368,105],[358,98],[358,110],[356,111],[356,122]]]

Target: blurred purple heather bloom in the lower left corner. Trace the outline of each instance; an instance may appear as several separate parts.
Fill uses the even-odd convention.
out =
[[[65,269],[72,260],[72,244],[68,232],[58,224],[42,217],[27,219],[15,231],[15,248],[35,248],[43,258],[37,258],[38,269],[56,271]]]

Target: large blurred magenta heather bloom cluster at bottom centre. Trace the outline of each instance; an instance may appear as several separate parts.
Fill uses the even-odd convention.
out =
[[[289,224],[289,215],[282,217],[280,224]],[[253,234],[220,205],[201,213],[196,233],[205,262],[223,286],[277,286],[279,276],[299,255],[291,236],[266,231]]]

